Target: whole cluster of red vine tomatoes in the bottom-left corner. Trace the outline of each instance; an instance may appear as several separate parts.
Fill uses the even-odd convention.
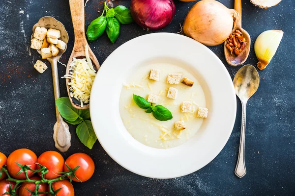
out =
[[[85,182],[89,180],[89,178],[94,173],[94,162],[85,153],[75,153],[64,161],[61,154],[59,154],[59,152],[56,151],[46,151],[42,153],[39,156],[39,158],[37,158],[36,154],[33,151],[26,148],[13,151],[8,156],[8,158],[6,158],[6,156],[0,152],[0,168],[6,165],[7,171],[11,178],[18,180],[26,180],[27,178],[24,171],[18,174],[21,168],[16,163],[21,165],[29,165],[29,168],[32,170],[40,169],[40,166],[36,163],[46,167],[48,169],[48,173],[44,175],[44,178],[46,180],[59,178],[61,176],[60,172],[69,171],[69,169],[66,167],[66,164],[71,169],[80,166],[75,172],[75,175],[78,179],[74,177],[72,179],[76,182]],[[38,176],[33,175],[33,171],[28,170],[28,176],[30,180],[41,180],[41,172],[38,173]],[[5,179],[6,177],[6,173],[2,172],[2,175],[0,177],[0,196],[9,191],[9,186],[11,186],[11,189],[13,189],[16,185],[15,182],[8,181],[7,179]],[[69,177],[70,176],[68,176],[68,178]],[[33,182],[22,183],[21,187],[18,190],[16,190],[16,193],[19,196],[31,196],[32,194],[28,190],[34,191],[35,186],[36,185]],[[52,184],[52,187],[53,191],[56,191],[61,188],[57,196],[74,196],[73,185],[70,183],[70,181],[66,179],[54,182]],[[41,183],[38,192],[44,193],[48,191],[48,184]],[[46,196],[46,194],[41,194],[39,196]]]

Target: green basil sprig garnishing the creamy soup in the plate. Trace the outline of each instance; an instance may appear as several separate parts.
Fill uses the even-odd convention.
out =
[[[145,98],[133,94],[133,100],[146,113],[152,113],[155,119],[159,121],[169,121],[173,118],[171,112],[163,105],[152,106]]]

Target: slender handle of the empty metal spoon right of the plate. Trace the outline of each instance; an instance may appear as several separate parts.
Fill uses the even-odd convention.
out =
[[[241,137],[240,137],[240,147],[238,152],[238,158],[236,163],[235,174],[237,177],[241,178],[246,175],[245,166],[245,132],[246,132],[246,106],[247,102],[242,103],[242,126],[241,126]]]

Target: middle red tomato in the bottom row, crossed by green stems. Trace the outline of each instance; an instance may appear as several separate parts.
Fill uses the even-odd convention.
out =
[[[30,178],[31,180],[41,180],[38,176],[34,176]],[[27,190],[35,191],[35,183],[32,182],[25,182],[22,184],[22,186],[19,189],[19,195],[20,196],[31,196],[32,194]],[[47,183],[41,183],[38,189],[38,192],[46,192],[48,188]],[[47,194],[39,194],[39,196],[46,196]]]

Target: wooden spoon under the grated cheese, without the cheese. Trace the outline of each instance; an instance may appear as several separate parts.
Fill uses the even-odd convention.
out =
[[[89,58],[92,61],[92,64],[94,65],[94,69],[96,72],[99,69],[99,63],[95,55],[93,54],[92,50],[90,49],[86,37],[85,37],[85,14],[84,14],[84,0],[69,0],[70,3],[70,10],[71,10],[71,16],[73,21],[73,27],[74,27],[74,33],[75,33],[75,43],[74,48],[72,51],[72,54],[69,58],[67,67],[66,67],[66,74],[69,73],[70,63],[73,61],[73,58],[86,58],[85,57],[85,47],[88,46],[89,51]],[[70,96],[70,89],[68,83],[70,82],[70,79],[66,79],[66,87],[68,96],[70,98],[70,101],[73,105],[73,107],[77,109],[87,109],[89,108],[89,103],[83,104],[83,107],[81,107],[80,100],[77,100],[75,98],[71,98]]]

